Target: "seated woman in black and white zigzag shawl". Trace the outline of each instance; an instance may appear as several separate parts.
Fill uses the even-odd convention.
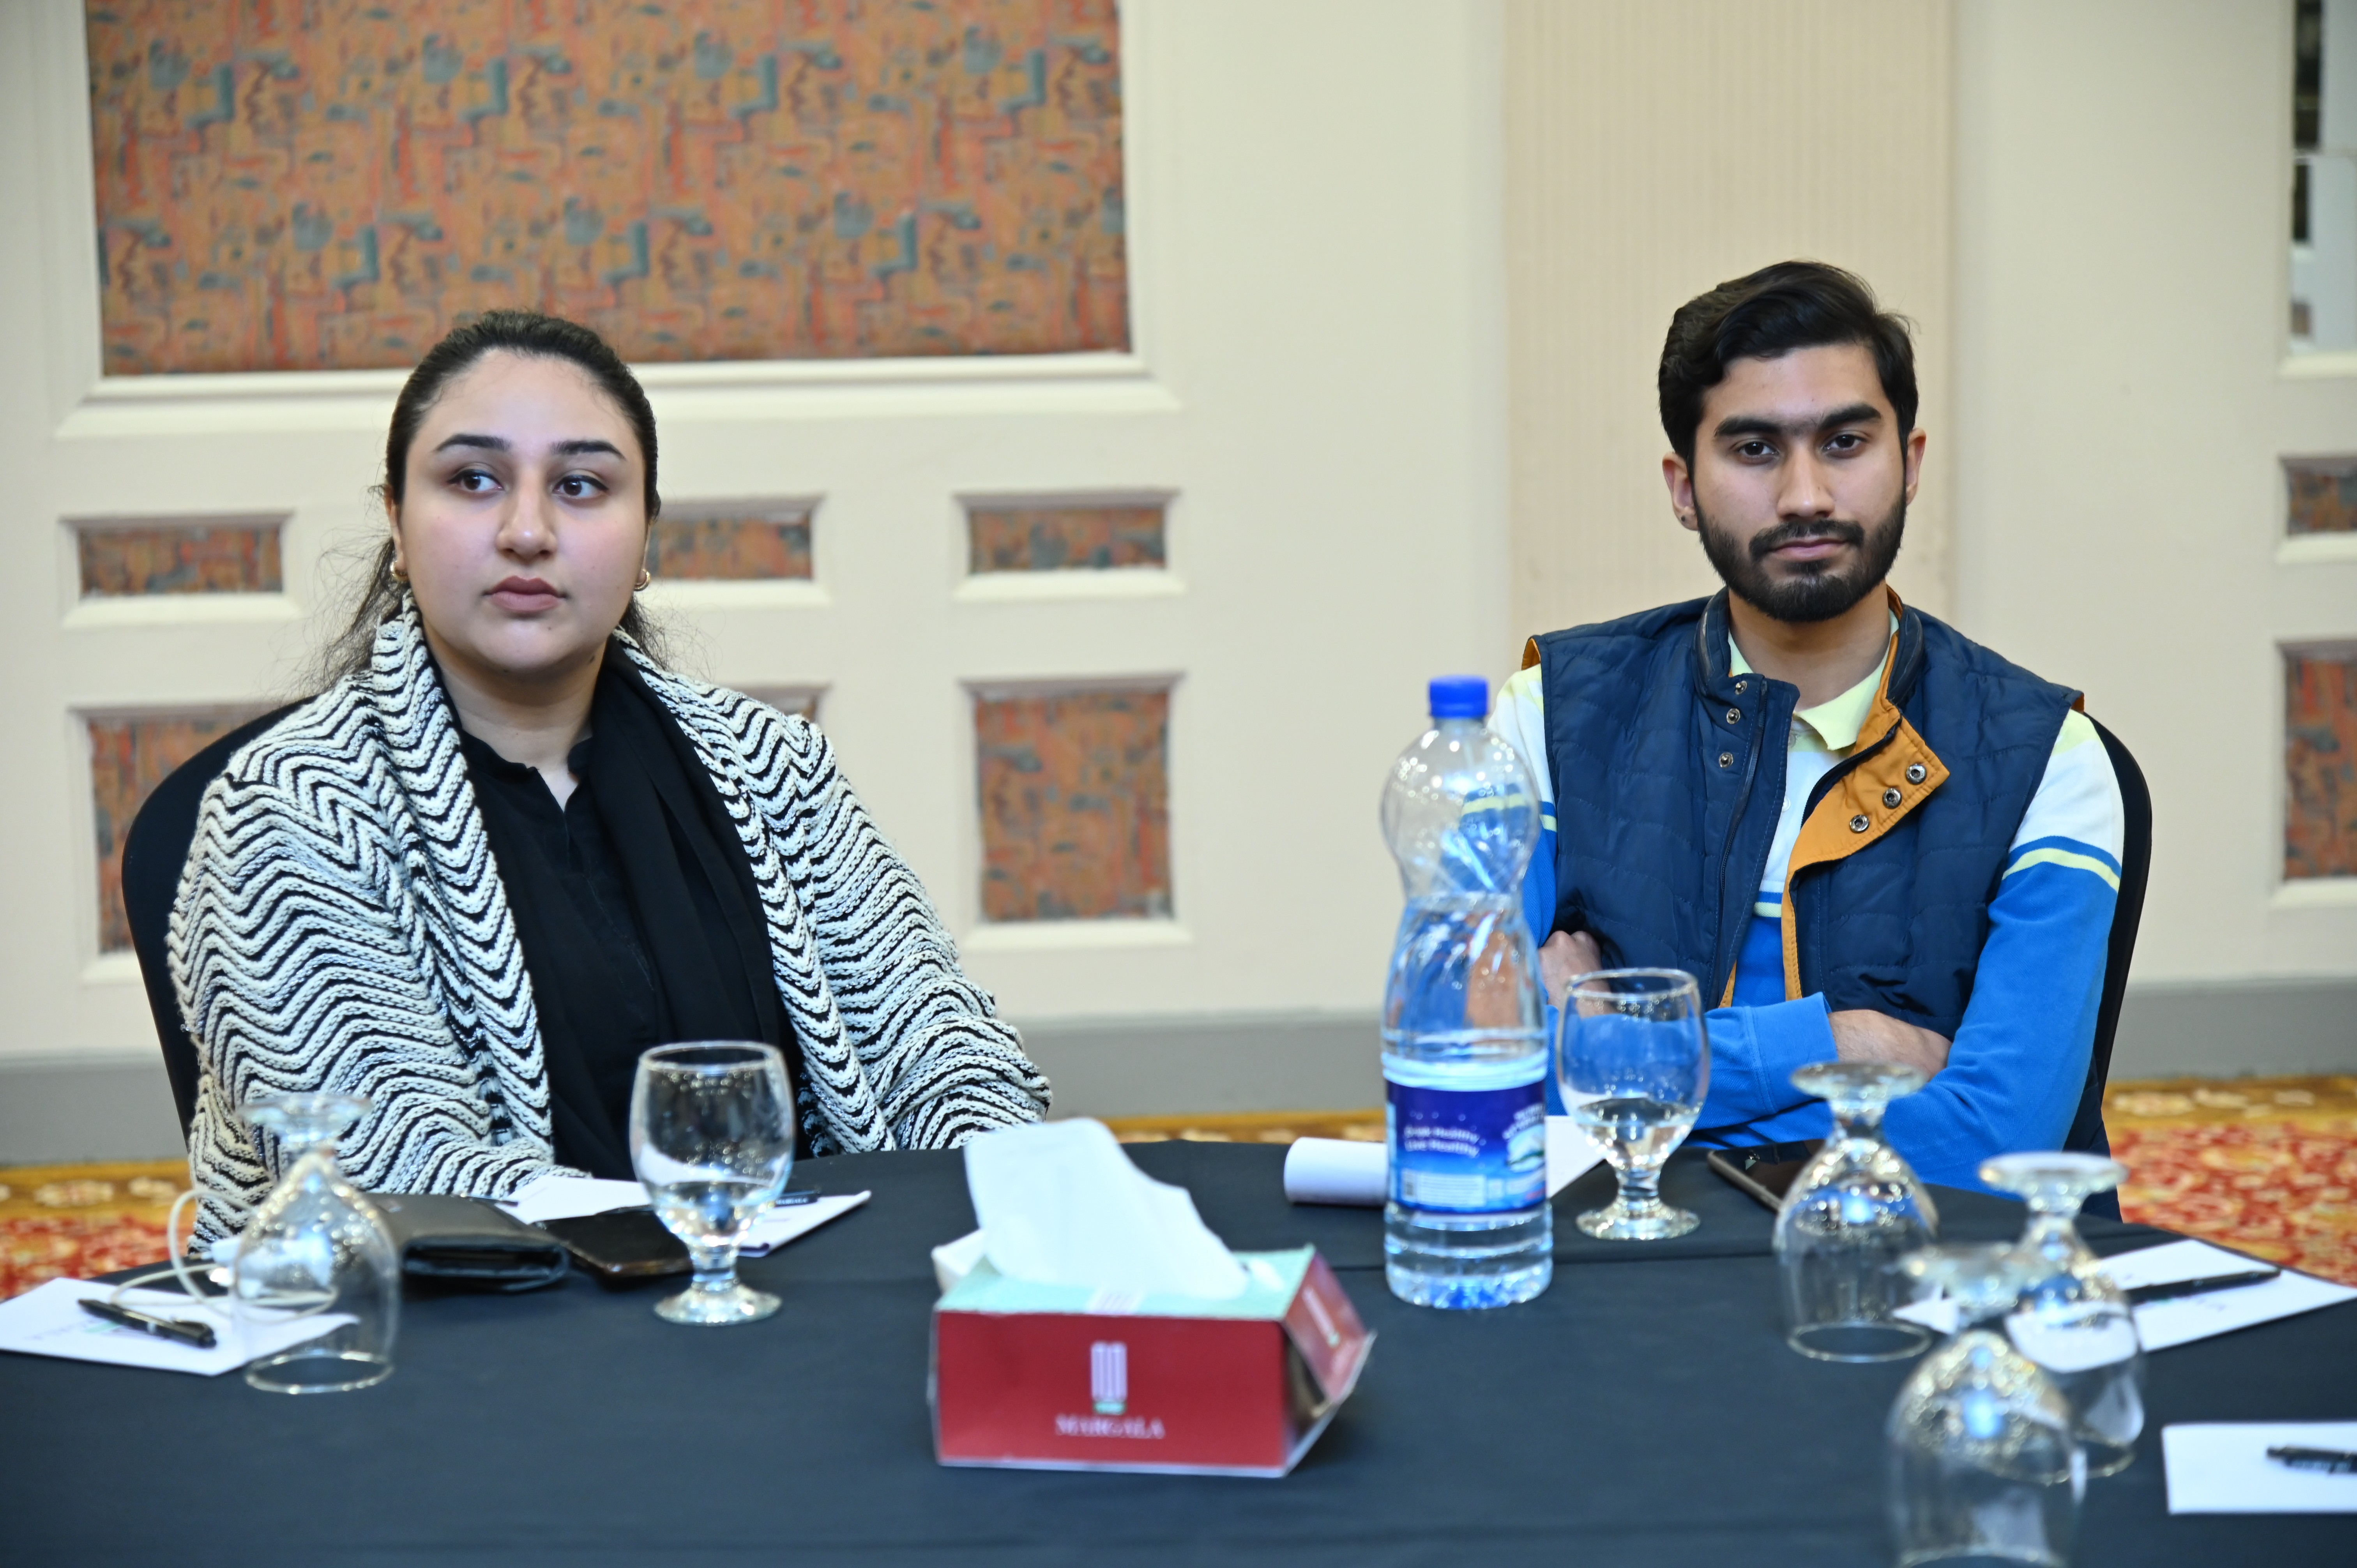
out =
[[[804,719],[667,672],[634,599],[655,415],[587,328],[493,311],[394,406],[391,538],[328,689],[205,792],[172,908],[203,1233],[276,1172],[236,1108],[375,1108],[372,1191],[629,1177],[639,1052],[768,1040],[806,1153],[952,1148],[1049,1087]]]

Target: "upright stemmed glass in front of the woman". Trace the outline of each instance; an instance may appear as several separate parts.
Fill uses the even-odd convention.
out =
[[[629,1160],[655,1217],[695,1264],[695,1283],[655,1316],[724,1325],[778,1311],[778,1297],[735,1278],[738,1243],[794,1170],[794,1096],[778,1047],[712,1040],[639,1056]]]

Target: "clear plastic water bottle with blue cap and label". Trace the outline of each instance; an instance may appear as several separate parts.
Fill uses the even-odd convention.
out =
[[[1490,681],[1431,684],[1433,729],[1384,785],[1407,913],[1384,990],[1391,1193],[1384,1278],[1419,1306],[1508,1306],[1546,1290],[1546,1033],[1523,868],[1539,792],[1490,733]]]

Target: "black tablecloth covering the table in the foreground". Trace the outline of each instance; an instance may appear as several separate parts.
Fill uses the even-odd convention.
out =
[[[1315,1240],[1379,1335],[1282,1481],[936,1467],[926,1250],[973,1228],[964,1170],[849,1155],[797,1186],[874,1198],[745,1264],[787,1299],[750,1327],[672,1327],[655,1290],[573,1276],[412,1297],[398,1370],[346,1396],[0,1356],[0,1561],[1888,1563],[1881,1424],[1909,1368],[1784,1349],[1768,1214],[1699,1158],[1664,1179],[1692,1236],[1593,1243],[1579,1184],[1544,1297],[1435,1313],[1384,1290],[1372,1210],[1282,1200],[1280,1148],[1131,1153],[1235,1247]],[[2020,1228],[1996,1198],[1940,1205],[1949,1238]],[[2164,1422],[2350,1417],[2357,1304],[2152,1356],[2145,1441],[2091,1483],[2077,1561],[2357,1561],[2357,1516],[2168,1518],[2159,1460]]]

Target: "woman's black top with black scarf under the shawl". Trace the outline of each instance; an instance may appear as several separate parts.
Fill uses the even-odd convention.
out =
[[[655,1045],[761,1040],[799,1078],[752,863],[625,655],[599,672],[563,806],[535,769],[460,747],[533,976],[559,1162],[634,1174],[629,1089]]]

